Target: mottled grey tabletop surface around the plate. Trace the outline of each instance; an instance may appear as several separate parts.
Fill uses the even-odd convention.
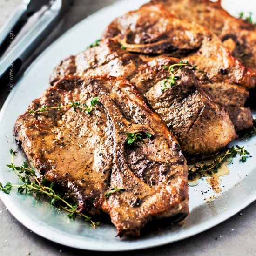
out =
[[[51,42],[89,14],[116,0],[74,0],[47,40],[34,52],[31,62]],[[0,26],[20,0],[0,0]],[[100,21],[99,22],[104,22]],[[79,39],[78,39],[79,40]],[[68,55],[68,53],[67,53]],[[1,91],[0,98],[7,92]],[[17,222],[0,201],[0,256],[55,255],[256,255],[256,202],[240,214],[199,235],[154,249],[122,253],[99,253],[68,248],[32,233]]]

